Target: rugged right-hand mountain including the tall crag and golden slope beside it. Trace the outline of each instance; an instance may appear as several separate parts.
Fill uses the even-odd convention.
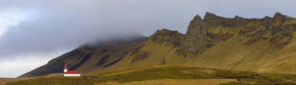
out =
[[[292,72],[296,19],[273,17],[225,18],[206,12],[190,22],[185,41],[177,49],[186,64],[255,72]],[[196,37],[198,36],[198,37]],[[288,52],[289,53],[285,53]],[[282,55],[283,53],[283,55]],[[289,55],[289,56],[288,56]],[[289,61],[289,62],[288,62]],[[295,63],[295,62],[294,62]],[[278,69],[281,68],[281,69]]]

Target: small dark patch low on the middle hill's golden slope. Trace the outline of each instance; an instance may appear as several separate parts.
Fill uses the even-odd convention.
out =
[[[146,59],[149,57],[149,55],[150,55],[149,51],[141,51],[141,53],[137,53],[137,55],[132,58],[131,63]]]

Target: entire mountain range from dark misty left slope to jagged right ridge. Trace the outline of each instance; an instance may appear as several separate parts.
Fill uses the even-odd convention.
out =
[[[186,34],[162,29],[145,41],[140,39],[109,48],[80,46],[20,77],[62,73],[64,63],[70,70],[82,73],[147,64],[295,73],[295,32],[296,18],[281,13],[248,19],[226,18],[206,12],[203,19],[196,15],[190,21]]]

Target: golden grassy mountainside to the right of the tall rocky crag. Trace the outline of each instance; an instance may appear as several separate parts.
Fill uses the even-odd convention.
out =
[[[207,25],[209,33],[215,33],[219,29],[219,33],[234,34],[234,36],[225,42],[217,43],[202,55],[190,59],[188,64],[241,71],[293,72],[295,68],[291,68],[291,64],[290,66],[282,64],[288,63],[286,60],[295,60],[296,55],[292,54],[289,57],[279,53],[287,48],[290,52],[295,51],[290,49],[292,46],[290,42],[295,41],[293,40],[296,29],[293,27],[296,24],[295,18],[276,13],[272,18],[262,19],[215,16],[213,22],[213,19],[209,18],[214,16],[215,14],[207,13],[204,18],[204,21],[209,23]],[[276,69],[279,65],[283,69]]]

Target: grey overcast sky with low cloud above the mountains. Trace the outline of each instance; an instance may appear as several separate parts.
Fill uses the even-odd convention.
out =
[[[206,11],[296,17],[295,0],[0,0],[0,77],[18,77],[78,45],[167,28],[185,34]]]

